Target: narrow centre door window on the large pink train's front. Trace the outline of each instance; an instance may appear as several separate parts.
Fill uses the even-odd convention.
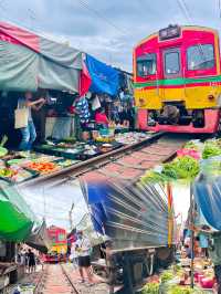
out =
[[[180,55],[179,51],[165,53],[165,73],[166,75],[175,75],[180,72]]]

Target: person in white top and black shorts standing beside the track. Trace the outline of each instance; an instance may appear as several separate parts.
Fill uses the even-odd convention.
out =
[[[86,272],[88,282],[93,285],[92,272],[91,272],[91,243],[90,240],[83,234],[82,231],[77,232],[77,241],[75,242],[75,250],[78,255],[78,271],[81,275],[81,282],[85,282],[84,272]]]

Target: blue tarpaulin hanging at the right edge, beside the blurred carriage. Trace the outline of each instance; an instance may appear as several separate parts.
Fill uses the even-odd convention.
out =
[[[201,178],[193,185],[196,202],[206,221],[221,231],[221,177]]]

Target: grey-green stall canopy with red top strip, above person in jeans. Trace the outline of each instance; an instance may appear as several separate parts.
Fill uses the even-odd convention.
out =
[[[80,91],[82,53],[69,45],[0,22],[0,90]]]

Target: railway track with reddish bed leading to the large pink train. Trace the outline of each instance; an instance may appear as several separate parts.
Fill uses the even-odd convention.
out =
[[[181,137],[178,137],[175,134],[154,134],[148,139],[138,144],[124,146],[110,153],[76,164],[72,167],[64,168],[61,171],[42,176],[30,181],[19,183],[18,186],[22,190],[23,188],[31,188],[46,182],[55,183],[56,180],[72,180],[82,175],[91,174],[94,170],[99,170],[99,174],[105,175],[109,170],[109,167],[117,168],[117,166],[118,170],[136,170],[134,176],[137,178],[152,166],[172,158],[176,155],[177,149],[179,149],[190,138],[192,137],[187,134]],[[137,160],[136,158],[141,158],[141,160]],[[130,175],[128,175],[128,177],[124,177],[124,172],[117,172],[115,168],[112,172],[112,177],[123,178],[125,180],[131,179]]]

